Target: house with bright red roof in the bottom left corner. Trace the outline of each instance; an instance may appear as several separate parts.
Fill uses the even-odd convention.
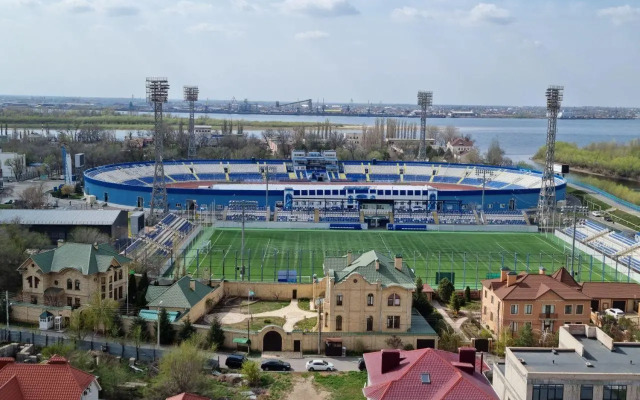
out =
[[[60,356],[45,364],[19,364],[0,358],[0,399],[97,400],[101,390],[95,376],[72,367]]]

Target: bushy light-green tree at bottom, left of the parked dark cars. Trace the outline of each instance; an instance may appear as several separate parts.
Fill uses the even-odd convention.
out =
[[[203,393],[207,385],[203,372],[206,360],[205,353],[189,340],[168,350],[160,359],[158,376],[151,383],[147,397],[165,399],[182,392]]]

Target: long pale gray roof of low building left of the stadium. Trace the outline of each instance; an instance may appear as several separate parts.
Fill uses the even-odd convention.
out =
[[[122,210],[0,210],[0,224],[113,225]]]

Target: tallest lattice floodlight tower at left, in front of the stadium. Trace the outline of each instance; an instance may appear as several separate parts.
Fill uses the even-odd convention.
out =
[[[167,184],[164,178],[164,129],[162,126],[162,104],[169,97],[169,81],[167,78],[147,78],[147,101],[153,103],[153,115],[155,118],[155,131],[153,141],[155,143],[155,168],[153,171],[153,189],[151,189],[151,203],[149,219],[157,222],[169,211],[167,202]]]

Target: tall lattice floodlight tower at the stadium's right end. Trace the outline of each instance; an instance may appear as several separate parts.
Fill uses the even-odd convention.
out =
[[[556,184],[553,173],[555,161],[556,131],[558,112],[562,103],[564,87],[549,86],[547,88],[547,154],[545,157],[540,198],[538,200],[538,225],[548,227],[553,220],[556,209]]]

